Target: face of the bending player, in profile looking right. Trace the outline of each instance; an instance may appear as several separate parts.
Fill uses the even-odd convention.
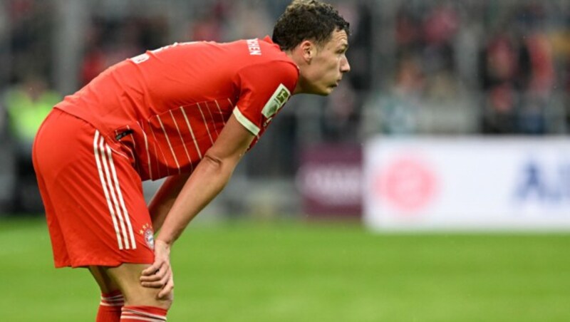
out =
[[[308,93],[328,95],[338,86],[343,74],[351,71],[347,49],[348,35],[343,30],[333,31],[327,43],[316,47],[316,54],[304,73]]]

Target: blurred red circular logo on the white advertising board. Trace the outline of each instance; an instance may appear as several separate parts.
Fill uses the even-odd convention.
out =
[[[413,212],[435,195],[434,171],[425,162],[403,158],[390,163],[375,180],[376,193],[393,207]]]

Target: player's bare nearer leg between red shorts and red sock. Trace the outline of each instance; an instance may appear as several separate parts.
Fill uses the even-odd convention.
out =
[[[168,309],[172,304],[172,294],[167,298],[158,298],[160,289],[144,287],[140,284],[140,275],[149,264],[122,264],[106,267],[104,270],[115,281],[125,296],[125,305],[157,306]]]

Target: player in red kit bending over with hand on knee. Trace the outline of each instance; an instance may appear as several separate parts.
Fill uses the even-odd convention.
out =
[[[90,270],[96,321],[166,321],[172,244],[291,95],[328,95],[350,71],[348,28],[331,5],[296,0],[272,39],[147,51],[56,105],[33,164],[55,265]],[[142,181],[162,177],[147,206]]]

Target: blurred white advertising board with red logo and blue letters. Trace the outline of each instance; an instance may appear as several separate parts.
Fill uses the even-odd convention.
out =
[[[375,229],[570,230],[568,138],[377,137],[363,178]]]

